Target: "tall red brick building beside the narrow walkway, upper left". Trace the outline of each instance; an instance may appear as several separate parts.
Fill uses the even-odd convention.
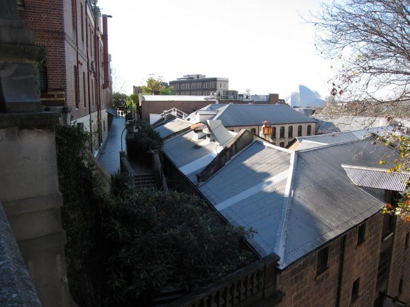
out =
[[[20,15],[41,47],[41,103],[80,123],[98,150],[107,138],[112,105],[107,15],[90,0],[25,0]]]

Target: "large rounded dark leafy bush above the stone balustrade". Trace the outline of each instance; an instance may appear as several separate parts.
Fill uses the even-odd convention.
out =
[[[121,306],[149,304],[169,284],[194,290],[254,260],[240,246],[252,230],[222,224],[203,200],[183,193],[138,189],[103,228],[113,250],[110,291]]]

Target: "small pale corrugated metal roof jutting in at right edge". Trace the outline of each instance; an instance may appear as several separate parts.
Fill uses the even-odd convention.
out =
[[[342,165],[342,167],[351,181],[359,187],[404,192],[407,187],[407,180],[410,178],[408,172],[395,173],[387,172],[386,169],[354,167],[351,165]]]

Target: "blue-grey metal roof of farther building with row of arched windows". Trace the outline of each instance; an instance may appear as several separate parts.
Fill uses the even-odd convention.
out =
[[[272,124],[316,123],[316,120],[300,114],[287,105],[235,105],[220,109],[213,119],[221,120],[225,127],[262,125],[269,120]]]

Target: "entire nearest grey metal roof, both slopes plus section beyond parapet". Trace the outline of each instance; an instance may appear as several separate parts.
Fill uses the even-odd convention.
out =
[[[217,152],[195,145],[188,134],[165,142],[194,184]],[[295,152],[254,140],[198,189],[228,222],[256,229],[249,244],[261,257],[279,255],[283,269],[380,211],[382,201],[352,184],[342,165],[389,169],[378,162],[393,155],[373,137]]]

